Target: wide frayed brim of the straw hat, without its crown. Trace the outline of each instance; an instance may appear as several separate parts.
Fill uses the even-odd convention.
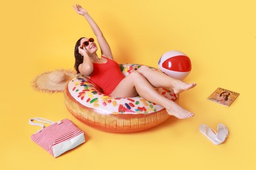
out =
[[[35,77],[35,79],[32,82],[33,89],[39,92],[45,92],[45,93],[61,93],[64,92],[64,88],[66,87],[66,84],[68,84],[68,81],[75,76],[75,71],[73,70],[65,70],[65,69],[58,69],[55,71],[61,71],[64,73],[65,79],[61,82],[55,83],[52,82],[49,79],[49,74],[53,73],[54,71],[47,71],[45,73],[42,73],[41,75],[38,75]]]

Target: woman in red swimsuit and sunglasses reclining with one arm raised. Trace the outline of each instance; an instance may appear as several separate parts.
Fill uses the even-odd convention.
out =
[[[188,84],[171,78],[159,71],[142,66],[128,76],[123,76],[119,65],[113,60],[110,46],[100,28],[87,10],[80,5],[74,6],[75,12],[85,17],[100,46],[102,57],[98,58],[94,39],[81,38],[75,44],[75,69],[77,73],[89,76],[104,93],[115,97],[135,97],[140,95],[148,101],[162,105],[168,114],[184,119],[194,116],[192,112],[182,109],[177,103],[160,95],[154,88],[172,88],[176,94],[194,88],[196,84]]]

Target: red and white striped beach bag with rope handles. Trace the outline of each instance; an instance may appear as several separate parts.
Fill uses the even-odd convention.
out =
[[[33,120],[51,125],[45,127],[44,124],[35,123]],[[42,127],[31,136],[31,139],[53,155],[54,158],[85,142],[83,131],[68,119],[53,122],[45,118],[31,118],[29,123]]]

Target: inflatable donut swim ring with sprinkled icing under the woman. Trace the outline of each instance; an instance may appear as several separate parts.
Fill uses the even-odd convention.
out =
[[[138,64],[121,64],[123,75],[139,69]],[[150,67],[151,69],[154,69]],[[177,102],[173,90],[156,88],[158,93]],[[161,124],[167,118],[165,108],[142,97],[111,97],[100,92],[89,78],[77,74],[64,90],[68,110],[81,122],[103,131],[127,133],[141,131]]]

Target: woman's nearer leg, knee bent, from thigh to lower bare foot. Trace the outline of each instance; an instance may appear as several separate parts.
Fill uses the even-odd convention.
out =
[[[116,97],[134,97],[137,93],[148,101],[162,105],[165,107],[168,114],[177,118],[183,119],[194,116],[193,113],[182,109],[177,103],[156,92],[150,82],[138,71],[134,71],[126,76],[110,95]]]

